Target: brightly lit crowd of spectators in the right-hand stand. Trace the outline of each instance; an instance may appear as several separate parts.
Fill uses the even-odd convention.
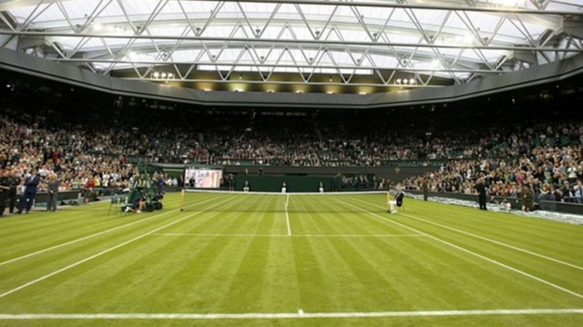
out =
[[[529,141],[525,141],[529,140]],[[490,196],[582,202],[583,125],[570,123],[527,128],[509,138],[514,156],[449,160],[440,169],[408,178],[405,189],[477,194],[484,180]],[[516,148],[516,145],[519,145]]]

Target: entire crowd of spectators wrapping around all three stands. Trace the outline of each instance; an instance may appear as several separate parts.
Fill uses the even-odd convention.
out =
[[[75,121],[18,110],[5,110],[0,118],[2,172],[23,177],[37,167],[41,176],[58,175],[61,190],[125,189],[137,173],[136,160],[309,167],[447,162],[405,180],[405,187],[420,189],[429,178],[431,191],[473,194],[476,180],[486,178],[490,195],[503,196],[519,195],[526,182],[536,195],[574,197],[573,185],[583,177],[583,124],[572,121],[464,125],[429,133],[378,124],[350,128],[309,115],[253,115],[206,128],[167,121]]]

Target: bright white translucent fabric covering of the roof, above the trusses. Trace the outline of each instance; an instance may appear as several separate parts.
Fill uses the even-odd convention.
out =
[[[248,3],[227,1],[161,0],[68,0],[50,1],[10,9],[25,28],[58,34],[47,37],[67,51],[84,53],[84,58],[155,60],[160,51],[172,60],[200,62],[217,60],[228,64],[326,64],[340,66],[398,67],[403,59],[416,68],[431,68],[435,61],[451,67],[487,67],[512,54],[508,49],[431,48],[416,45],[457,45],[460,47],[530,47],[549,30],[560,30],[562,17],[462,10],[383,8],[359,6],[366,3],[397,3],[396,0],[353,0],[349,5],[295,5],[294,3]],[[477,7],[560,10],[580,13],[583,0],[473,1]],[[409,5],[444,5],[462,8],[465,0],[409,0]],[[510,6],[510,7],[509,7]],[[124,12],[125,11],[125,12]],[[127,14],[127,15],[126,15]],[[153,19],[152,19],[153,18]],[[151,20],[152,19],[152,20]],[[134,30],[135,29],[135,30]],[[137,30],[137,32],[136,32]],[[91,34],[84,39],[75,33]],[[123,51],[130,38],[115,36],[163,36],[165,39],[138,39]],[[195,36],[207,40],[195,40]],[[180,37],[188,39],[179,40]],[[224,40],[224,38],[246,40]],[[213,39],[215,40],[209,40]],[[260,43],[258,39],[285,40]],[[309,43],[298,44],[305,40]],[[378,40],[381,45],[363,45]],[[318,45],[314,41],[326,41]],[[385,44],[389,43],[389,44]],[[394,44],[394,45],[392,45]],[[567,45],[562,45],[566,47]],[[174,53],[172,53],[172,50]],[[243,51],[241,57],[241,50]],[[324,49],[329,52],[324,53]],[[207,52],[208,51],[208,52]],[[125,52],[125,53],[124,53]],[[112,54],[110,54],[112,53]],[[202,53],[202,56],[201,56]],[[215,55],[209,57],[209,54]],[[537,55],[540,53],[536,53]],[[572,56],[567,54],[567,58]],[[562,58],[562,56],[560,56]],[[311,59],[310,59],[311,58]],[[362,62],[356,59],[365,58]],[[549,57],[554,58],[554,57]],[[118,68],[123,64],[117,65]],[[127,64],[126,64],[127,66]],[[237,68],[240,69],[240,68]],[[278,68],[280,69],[280,68]],[[281,67],[289,71],[289,67]],[[292,69],[294,70],[294,69]],[[297,71],[297,69],[295,69]],[[460,73],[461,74],[461,73]],[[458,74],[466,76],[467,74]],[[449,73],[439,73],[451,77]]]

